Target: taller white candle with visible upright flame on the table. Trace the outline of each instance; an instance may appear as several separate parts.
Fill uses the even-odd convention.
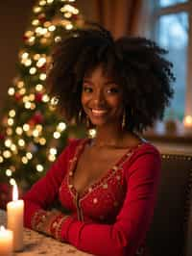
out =
[[[13,250],[23,249],[23,200],[18,200],[16,184],[13,185],[12,201],[7,204],[8,228],[13,231]]]

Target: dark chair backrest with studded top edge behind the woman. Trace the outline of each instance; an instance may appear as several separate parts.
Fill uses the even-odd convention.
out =
[[[162,155],[155,215],[147,236],[151,256],[192,256],[191,184],[192,157]]]

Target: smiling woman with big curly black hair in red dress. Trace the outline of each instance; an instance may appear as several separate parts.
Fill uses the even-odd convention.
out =
[[[173,95],[165,53],[145,38],[114,40],[101,27],[60,41],[48,83],[67,119],[96,127],[96,137],[71,142],[27,192],[27,227],[94,255],[143,255],[160,157],[138,134],[162,118]],[[47,210],[56,198],[70,214]]]

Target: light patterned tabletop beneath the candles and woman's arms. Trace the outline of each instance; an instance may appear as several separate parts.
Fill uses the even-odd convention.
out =
[[[6,213],[0,210],[0,225],[6,226]],[[68,243],[60,243],[57,240],[46,237],[31,229],[24,229],[24,249],[14,253],[14,256],[90,256],[90,254],[78,250]]]

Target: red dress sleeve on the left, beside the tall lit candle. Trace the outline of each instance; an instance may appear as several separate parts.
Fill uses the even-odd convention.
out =
[[[72,142],[60,154],[58,160],[24,196],[24,224],[32,228],[32,218],[39,210],[44,210],[58,196],[60,183],[67,171],[69,156],[73,154],[77,142]]]

